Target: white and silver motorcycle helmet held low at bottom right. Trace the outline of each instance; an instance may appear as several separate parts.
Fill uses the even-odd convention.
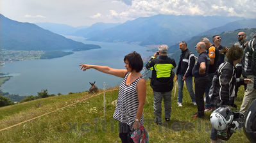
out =
[[[210,123],[216,130],[225,130],[232,123],[233,117],[230,107],[224,105],[210,114]]]

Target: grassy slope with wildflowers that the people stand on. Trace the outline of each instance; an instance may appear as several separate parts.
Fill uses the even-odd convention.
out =
[[[147,98],[144,107],[145,126],[150,142],[210,142],[210,113],[203,119],[191,119],[196,112],[189,94],[183,91],[183,107],[178,107],[172,97],[171,121],[157,126],[153,123],[153,93],[147,82]],[[185,87],[184,87],[185,88]],[[240,88],[237,105],[243,100]],[[174,90],[173,90],[174,93]],[[106,93],[106,117],[103,117],[103,94],[76,103],[33,121],[0,132],[0,142],[121,142],[118,122],[112,117],[115,107],[111,102],[117,98],[117,88]],[[92,96],[75,93],[20,103],[0,108],[0,129],[26,119],[44,114]],[[164,115],[162,115],[164,119]],[[248,142],[243,130],[234,133],[228,142]]]

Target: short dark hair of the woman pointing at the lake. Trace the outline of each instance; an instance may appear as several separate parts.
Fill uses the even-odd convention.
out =
[[[135,51],[131,52],[124,57],[124,62],[126,59],[129,62],[129,66],[132,68],[132,70],[135,70],[136,72],[141,72],[143,68],[143,61],[139,53]]]

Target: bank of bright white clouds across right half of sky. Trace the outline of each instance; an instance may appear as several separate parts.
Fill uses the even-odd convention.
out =
[[[198,1],[198,0],[119,0],[129,3],[128,9],[117,13],[119,17],[134,19],[157,14],[237,16],[256,18],[255,0]]]

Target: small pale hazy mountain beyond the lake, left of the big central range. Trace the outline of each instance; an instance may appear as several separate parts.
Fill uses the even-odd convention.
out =
[[[88,38],[88,37],[98,35],[99,33],[101,33],[101,31],[103,31],[105,29],[109,29],[111,27],[115,27],[118,25],[120,25],[120,24],[119,23],[114,24],[114,23],[98,22],[96,24],[92,24],[92,26],[90,26],[90,27],[78,29],[76,32],[69,33],[69,34],[73,35],[73,36],[83,36],[85,38]]]

